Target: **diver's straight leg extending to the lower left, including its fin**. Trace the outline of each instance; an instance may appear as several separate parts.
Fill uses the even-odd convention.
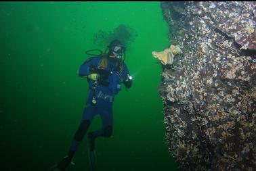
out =
[[[85,136],[87,130],[89,129],[91,120],[93,119],[94,116],[95,116],[95,107],[93,106],[86,107],[83,112],[82,121],[72,140],[72,145],[70,147],[70,150],[68,151],[68,156],[64,157],[64,159],[57,164],[57,167],[60,170],[66,170],[70,162],[72,162],[74,153],[77,151],[77,147],[79,147],[79,144],[81,143],[81,141],[83,140],[83,137]]]

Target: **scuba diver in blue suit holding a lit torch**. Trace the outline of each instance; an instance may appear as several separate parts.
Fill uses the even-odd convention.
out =
[[[78,70],[78,75],[87,78],[89,92],[83,110],[81,123],[75,132],[68,155],[49,171],[66,170],[72,164],[74,153],[87,133],[94,116],[100,114],[102,128],[88,133],[89,160],[91,170],[95,165],[95,139],[112,135],[112,105],[114,95],[121,91],[121,82],[126,89],[131,87],[132,77],[124,62],[125,47],[119,40],[114,40],[108,46],[108,53],[90,57]],[[94,161],[93,161],[94,160]]]

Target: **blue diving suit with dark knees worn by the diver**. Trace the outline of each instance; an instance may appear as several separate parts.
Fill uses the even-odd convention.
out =
[[[89,61],[81,65],[79,68],[79,76],[88,76],[91,74],[91,68],[99,68],[101,59],[101,56],[92,57]],[[108,65],[104,68],[104,70],[109,73],[108,77],[104,78],[104,82],[108,82],[108,85],[103,85],[100,81],[95,82],[87,79],[89,83],[87,102],[83,111],[81,124],[74,136],[70,151],[77,150],[79,143],[91,124],[91,120],[97,114],[100,114],[100,117],[102,118],[103,128],[93,132],[93,136],[97,138],[99,136],[110,137],[112,135],[112,103],[114,101],[114,95],[121,91],[122,82],[127,88],[130,88],[132,84],[132,80],[126,80],[127,76],[129,76],[129,70],[126,64],[123,63],[122,70],[119,72],[115,70],[115,66],[116,61],[108,59]],[[95,104],[92,103],[93,99],[96,101]]]

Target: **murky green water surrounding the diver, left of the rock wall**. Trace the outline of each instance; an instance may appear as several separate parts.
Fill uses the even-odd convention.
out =
[[[137,32],[125,59],[133,87],[115,98],[113,137],[97,139],[98,170],[177,170],[152,57],[169,46],[160,2],[1,2],[0,19],[0,170],[43,171],[66,155],[87,97],[77,69],[86,50],[105,49],[93,35],[119,24]],[[97,116],[90,130],[100,126]],[[86,140],[68,170],[89,170]]]

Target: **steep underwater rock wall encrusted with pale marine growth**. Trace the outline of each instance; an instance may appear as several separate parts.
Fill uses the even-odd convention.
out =
[[[167,144],[182,170],[256,170],[255,2],[162,2]]]

